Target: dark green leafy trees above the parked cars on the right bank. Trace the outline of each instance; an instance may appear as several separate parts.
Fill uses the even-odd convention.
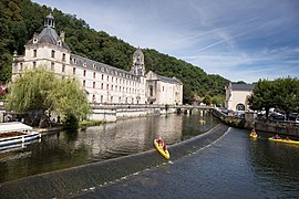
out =
[[[288,116],[299,107],[299,80],[291,77],[259,80],[248,102],[254,111],[265,109],[266,117],[271,107],[285,111]]]

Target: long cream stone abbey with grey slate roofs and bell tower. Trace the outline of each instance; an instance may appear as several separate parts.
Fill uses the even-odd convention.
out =
[[[12,81],[25,70],[45,66],[62,76],[75,77],[91,103],[100,104],[182,104],[183,83],[150,71],[145,74],[144,54],[133,54],[131,71],[100,63],[71,53],[64,32],[58,35],[50,13],[44,28],[24,45],[24,55],[14,54]]]

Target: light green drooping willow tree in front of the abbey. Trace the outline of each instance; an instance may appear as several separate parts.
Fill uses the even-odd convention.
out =
[[[91,109],[85,91],[75,80],[62,78],[42,66],[17,77],[9,91],[7,111],[41,111],[43,114],[48,111],[80,119],[85,118]]]

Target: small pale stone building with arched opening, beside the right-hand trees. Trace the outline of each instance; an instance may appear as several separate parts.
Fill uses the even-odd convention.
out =
[[[255,88],[254,84],[231,84],[229,83],[225,86],[226,98],[225,98],[225,108],[233,111],[247,111],[248,107],[248,97],[251,95],[252,90]]]

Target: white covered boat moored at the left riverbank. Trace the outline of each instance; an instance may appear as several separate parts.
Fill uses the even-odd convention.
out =
[[[38,138],[41,138],[41,134],[33,132],[31,126],[19,122],[0,123],[0,150],[17,144],[27,145]]]

